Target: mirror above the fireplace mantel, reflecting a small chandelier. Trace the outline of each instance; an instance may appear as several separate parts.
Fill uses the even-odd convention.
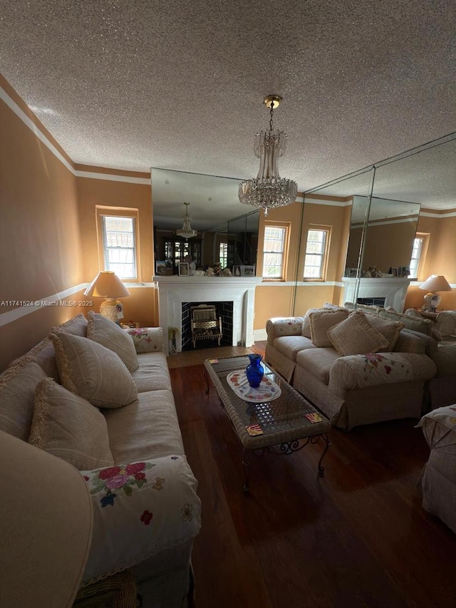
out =
[[[259,211],[246,214],[238,197],[240,181],[152,168],[155,259],[171,257],[176,267],[186,254],[192,255],[198,267],[221,260],[230,269],[234,264],[256,264]],[[182,227],[184,202],[190,202],[190,222],[197,230],[197,236],[188,241],[175,235]]]

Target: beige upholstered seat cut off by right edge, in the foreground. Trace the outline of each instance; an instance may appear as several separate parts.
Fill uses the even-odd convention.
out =
[[[430,455],[423,473],[423,508],[456,532],[456,405],[427,413],[418,424]]]

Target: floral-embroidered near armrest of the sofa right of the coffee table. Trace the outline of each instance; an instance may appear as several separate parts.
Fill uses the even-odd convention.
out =
[[[437,369],[427,355],[414,353],[370,353],[349,355],[334,361],[329,372],[329,388],[345,396],[353,388],[384,383],[430,380]]]

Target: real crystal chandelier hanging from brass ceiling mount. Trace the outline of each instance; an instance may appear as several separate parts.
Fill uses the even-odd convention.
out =
[[[284,207],[296,200],[298,185],[293,180],[286,180],[279,175],[278,159],[286,150],[286,133],[274,130],[272,117],[274,108],[282,101],[279,95],[268,95],[264,103],[271,108],[269,131],[260,131],[255,137],[254,153],[259,161],[259,172],[256,179],[246,180],[239,184],[239,200],[244,205],[253,205],[264,209]]]

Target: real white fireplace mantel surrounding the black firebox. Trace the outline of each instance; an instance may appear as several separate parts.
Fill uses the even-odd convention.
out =
[[[153,277],[158,287],[159,324],[177,327],[176,350],[182,351],[183,302],[233,302],[233,346],[254,344],[255,287],[261,277]]]

